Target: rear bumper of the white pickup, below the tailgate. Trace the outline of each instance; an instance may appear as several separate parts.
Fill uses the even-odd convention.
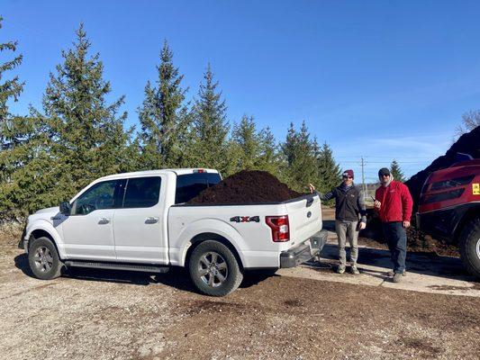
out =
[[[321,230],[310,238],[309,241],[280,254],[280,267],[295,267],[316,257],[327,242],[327,231]]]

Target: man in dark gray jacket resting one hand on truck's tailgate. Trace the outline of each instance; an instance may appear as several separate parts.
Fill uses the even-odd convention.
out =
[[[358,275],[358,231],[367,226],[367,211],[365,207],[364,193],[353,184],[353,170],[345,170],[342,174],[342,183],[331,189],[328,193],[319,193],[322,201],[335,199],[335,230],[339,240],[340,266],[337,273],[345,273],[347,254],[345,245],[347,239],[350,244],[351,273]],[[309,184],[313,192],[315,188]],[[360,219],[358,219],[360,218]],[[358,220],[360,223],[358,224]]]

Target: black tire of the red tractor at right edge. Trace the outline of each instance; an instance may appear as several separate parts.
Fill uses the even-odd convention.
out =
[[[480,218],[466,224],[460,234],[459,245],[466,271],[480,278]]]

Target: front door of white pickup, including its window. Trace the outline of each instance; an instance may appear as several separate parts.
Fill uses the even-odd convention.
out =
[[[69,216],[60,219],[68,258],[114,260],[113,215],[121,181],[96,183],[71,204]]]

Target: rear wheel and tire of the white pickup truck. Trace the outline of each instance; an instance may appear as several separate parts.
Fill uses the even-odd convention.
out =
[[[213,254],[216,254],[215,258]],[[243,279],[239,263],[231,250],[214,240],[204,241],[195,247],[188,269],[198,291],[210,296],[225,296],[233,292]]]

